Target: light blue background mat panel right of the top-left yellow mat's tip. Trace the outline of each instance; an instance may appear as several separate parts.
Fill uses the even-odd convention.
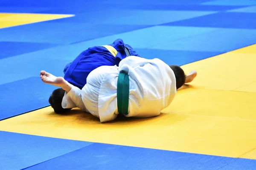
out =
[[[76,17],[64,18],[61,20],[48,21],[50,23],[101,23],[113,25],[146,25],[154,26],[157,24],[170,23],[178,20],[185,20],[193,17],[214,14],[218,11],[166,11],[166,10],[134,10],[121,8],[108,8],[105,10],[84,11],[76,14]],[[121,14],[121,15],[119,15]],[[93,17],[88,17],[93,15]],[[77,25],[76,25],[77,26]]]

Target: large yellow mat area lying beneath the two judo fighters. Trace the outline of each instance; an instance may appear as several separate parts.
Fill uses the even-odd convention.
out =
[[[255,64],[255,55],[230,52],[184,65],[198,70],[198,77],[154,118],[100,124],[79,110],[60,116],[48,107],[3,120],[0,130],[256,159],[256,93],[241,91],[255,90]]]

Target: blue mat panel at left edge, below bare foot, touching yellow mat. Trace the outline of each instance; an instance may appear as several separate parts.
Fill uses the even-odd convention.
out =
[[[49,105],[54,89],[54,86],[44,85],[38,77],[0,85],[0,120]]]

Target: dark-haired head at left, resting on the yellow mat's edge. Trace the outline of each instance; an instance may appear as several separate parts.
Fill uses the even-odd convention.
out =
[[[49,97],[49,104],[52,106],[55,113],[65,113],[70,111],[71,108],[62,108],[61,102],[64,97],[65,91],[62,88],[55,89]]]

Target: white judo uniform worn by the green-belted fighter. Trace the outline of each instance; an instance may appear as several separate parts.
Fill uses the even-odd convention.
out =
[[[176,79],[172,69],[160,59],[129,56],[119,67],[101,66],[87,77],[81,90],[75,86],[65,93],[63,108],[80,108],[98,117],[100,122],[117,117],[117,79],[120,71],[129,76],[128,117],[158,116],[176,95]]]

